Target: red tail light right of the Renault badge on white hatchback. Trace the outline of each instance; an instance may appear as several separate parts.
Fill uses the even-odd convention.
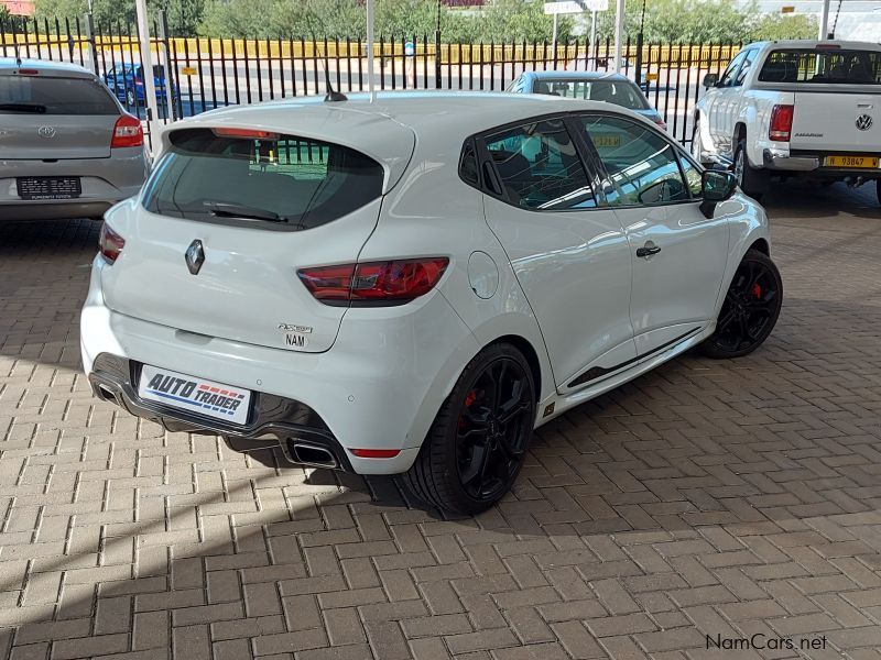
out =
[[[403,305],[432,290],[448,264],[446,257],[411,258],[301,268],[297,275],[325,305]]]

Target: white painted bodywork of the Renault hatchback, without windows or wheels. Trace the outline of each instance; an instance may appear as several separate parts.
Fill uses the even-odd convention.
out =
[[[768,222],[761,207],[736,195],[709,220],[696,202],[642,209],[641,218],[597,208],[572,213],[559,231],[565,213],[521,211],[459,178],[468,136],[541,114],[591,110],[608,113],[609,107],[409,92],[380,95],[374,105],[365,97],[341,105],[282,101],[175,124],[284,131],[349,145],[383,165],[383,195],[350,216],[291,233],[164,218],[139,199],[118,205],[107,223],[127,243],[115,264],[101,256],[93,264],[81,315],[86,373],[94,375],[96,358],[109,353],[302,402],[362,474],[406,471],[465,366],[500,339],[534,362],[536,426],[635,377],[713,332],[740,257],[757,241],[768,250]],[[167,148],[167,134],[163,143]],[[520,229],[531,224],[530,232],[516,229],[521,213],[529,217]],[[634,245],[650,237],[665,250],[635,260]],[[183,265],[194,238],[206,248],[198,276]],[[434,289],[399,306],[322,305],[295,274],[303,265],[420,256],[445,256],[449,264]],[[642,282],[633,304],[631,280]],[[279,323],[313,327],[315,343],[284,346]],[[638,354],[638,345],[657,349],[689,323],[696,328],[686,339]],[[591,366],[611,370],[609,377],[567,386]],[[402,451],[390,459],[350,451],[365,448]]]

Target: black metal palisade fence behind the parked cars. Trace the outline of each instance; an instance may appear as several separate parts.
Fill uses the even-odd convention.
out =
[[[337,90],[368,88],[367,50],[361,38],[172,37],[160,18],[153,24],[154,65],[168,72],[171,107],[160,99],[162,121],[214,108],[292,96],[324,94],[325,72]],[[612,70],[609,40],[444,43],[442,35],[380,35],[373,44],[377,89],[457,89],[498,91],[526,70]],[[621,72],[643,86],[668,131],[690,142],[690,113],[704,92],[707,73],[720,73],[739,43],[643,43],[622,45]],[[81,19],[0,22],[0,56],[72,62],[108,81],[129,111],[145,116],[143,95],[127,95],[124,77],[109,79],[119,65],[141,64],[137,25],[94,24]],[[128,98],[127,98],[128,97]]]

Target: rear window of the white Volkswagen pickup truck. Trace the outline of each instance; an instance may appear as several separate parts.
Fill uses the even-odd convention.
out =
[[[769,54],[762,82],[881,85],[881,53],[849,50],[785,50]]]

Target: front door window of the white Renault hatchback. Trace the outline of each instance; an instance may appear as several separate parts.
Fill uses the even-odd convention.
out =
[[[627,119],[581,118],[611,182],[606,200],[616,206],[656,206],[690,199],[677,150],[652,129]]]

